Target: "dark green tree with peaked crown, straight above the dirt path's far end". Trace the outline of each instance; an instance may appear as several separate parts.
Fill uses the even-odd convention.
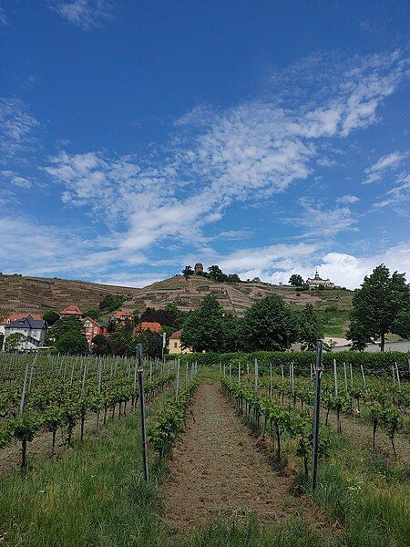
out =
[[[214,294],[207,294],[200,307],[188,315],[182,330],[182,344],[194,351],[220,351],[223,342],[222,309]]]

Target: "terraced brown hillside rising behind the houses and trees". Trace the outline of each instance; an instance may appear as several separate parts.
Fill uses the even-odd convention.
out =
[[[353,298],[353,292],[346,289],[298,291],[290,286],[261,283],[215,283],[200,275],[188,279],[176,275],[142,289],[59,278],[0,275],[0,318],[12,312],[44,314],[47,310],[59,311],[69,304],[77,304],[85,311],[96,308],[107,294],[125,294],[128,298],[122,307],[136,309],[139,313],[147,307],[163,308],[169,303],[189,311],[196,308],[206,294],[215,294],[226,312],[239,316],[256,300],[268,294],[280,294],[296,310],[313,304],[322,312],[330,335],[343,335]]]

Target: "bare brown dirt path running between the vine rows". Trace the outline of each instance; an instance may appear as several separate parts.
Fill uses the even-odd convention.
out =
[[[215,385],[199,387],[171,467],[165,515],[177,531],[216,519],[241,521],[250,513],[274,524],[304,512],[290,479],[272,470]]]

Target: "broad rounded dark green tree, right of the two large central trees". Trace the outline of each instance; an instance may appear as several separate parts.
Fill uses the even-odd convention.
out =
[[[295,342],[297,335],[297,317],[278,294],[255,302],[243,317],[242,339],[246,351],[281,351]]]

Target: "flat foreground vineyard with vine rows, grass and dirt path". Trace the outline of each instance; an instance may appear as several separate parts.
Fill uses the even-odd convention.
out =
[[[409,544],[403,363],[200,357],[2,354],[0,541]]]

